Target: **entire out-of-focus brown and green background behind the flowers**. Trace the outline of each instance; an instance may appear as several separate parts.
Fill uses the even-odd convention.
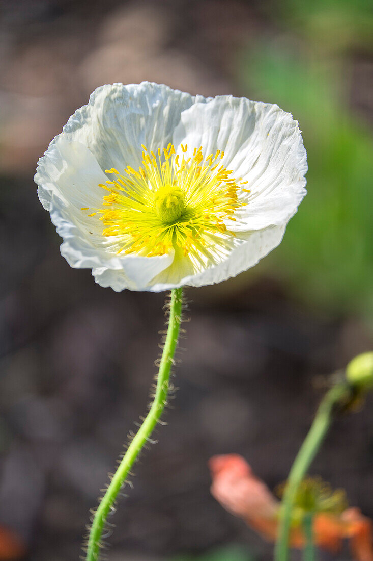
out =
[[[116,294],[70,269],[32,176],[97,86],[153,80],[292,112],[309,194],[257,268],[186,291],[169,425],[112,519],[108,558],[271,559],[209,495],[207,461],[243,454],[273,488],[325,376],[373,347],[372,2],[2,0],[0,11],[0,524],[27,561],[78,559],[88,509],[145,411],[164,295]],[[373,517],[372,404],[334,425],[311,471]]]

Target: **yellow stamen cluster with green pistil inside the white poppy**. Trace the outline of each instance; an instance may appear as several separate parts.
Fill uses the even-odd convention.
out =
[[[189,255],[194,263],[216,261],[232,246],[234,233],[226,220],[236,221],[243,206],[241,196],[249,192],[247,182],[237,182],[221,164],[217,150],[207,158],[202,146],[187,158],[169,144],[157,155],[142,145],[142,166],[128,166],[124,173],[108,169],[112,179],[100,186],[104,209],[97,209],[104,224],[102,234],[110,238],[118,254],[164,255],[171,249]],[[96,212],[89,216],[97,214]]]

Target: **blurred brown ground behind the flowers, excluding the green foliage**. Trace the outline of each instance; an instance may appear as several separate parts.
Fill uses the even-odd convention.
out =
[[[36,161],[104,83],[146,79],[193,94],[247,94],[237,85],[236,53],[267,23],[255,2],[238,0],[8,0],[1,11],[0,523],[27,540],[28,560],[69,561],[145,410],[164,295],[116,294],[69,268],[36,197]],[[315,378],[372,339],[358,318],[301,307],[260,268],[250,279],[186,291],[191,321],[179,389],[169,425],[113,518],[111,561],[226,542],[271,558],[209,496],[206,462],[238,452],[269,485],[285,479],[323,392]],[[312,470],[346,488],[368,516],[371,405],[334,426]]]

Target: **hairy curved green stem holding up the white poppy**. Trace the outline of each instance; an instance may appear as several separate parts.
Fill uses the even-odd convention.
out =
[[[97,508],[92,526],[88,537],[86,561],[98,561],[100,555],[102,531],[104,529],[108,514],[113,508],[116,497],[125,479],[133,466],[139,452],[150,438],[167,402],[167,394],[169,390],[169,379],[171,365],[174,363],[174,354],[178,343],[178,336],[181,323],[183,289],[174,288],[171,291],[170,317],[165,339],[165,345],[162,352],[160,367],[157,376],[157,387],[154,400],[150,411],[144,419],[141,427],[129,444],[127,452],[124,454],[122,461],[116,470],[110,485],[102,497],[99,507]]]

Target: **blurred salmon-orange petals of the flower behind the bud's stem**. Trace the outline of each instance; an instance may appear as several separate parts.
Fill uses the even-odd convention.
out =
[[[265,539],[277,536],[280,503],[265,483],[258,479],[244,458],[237,454],[214,456],[209,461],[212,475],[211,493],[227,511],[243,518]],[[350,540],[356,561],[373,561],[372,521],[358,508],[342,513],[319,512],[314,517],[315,544],[336,553],[343,539]],[[302,527],[293,523],[290,545],[301,548],[305,543]]]

